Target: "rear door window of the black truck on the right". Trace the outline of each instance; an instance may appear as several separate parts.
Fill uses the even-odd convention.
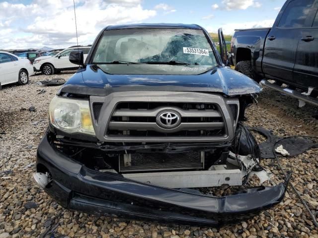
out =
[[[314,0],[293,0],[285,8],[278,27],[303,27]]]

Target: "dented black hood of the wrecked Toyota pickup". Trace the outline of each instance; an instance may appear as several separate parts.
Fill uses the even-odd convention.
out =
[[[61,91],[98,96],[120,91],[216,92],[235,96],[259,93],[261,87],[230,67],[103,64],[79,70]]]

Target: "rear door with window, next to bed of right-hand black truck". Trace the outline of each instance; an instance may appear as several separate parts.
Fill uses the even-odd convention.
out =
[[[263,71],[267,78],[293,80],[298,41],[315,0],[288,0],[268,33]]]

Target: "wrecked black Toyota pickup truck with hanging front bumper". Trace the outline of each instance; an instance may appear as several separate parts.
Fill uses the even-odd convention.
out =
[[[108,26],[49,107],[34,180],[90,214],[219,226],[279,203],[287,181],[223,197],[198,187],[266,180],[241,123],[261,88],[224,66],[198,25]]]

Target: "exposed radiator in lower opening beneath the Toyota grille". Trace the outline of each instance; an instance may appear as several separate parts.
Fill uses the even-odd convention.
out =
[[[202,155],[201,155],[202,154]],[[124,158],[126,156],[126,158]],[[129,157],[129,159],[127,159]],[[191,151],[186,153],[164,154],[128,154],[119,156],[119,171],[169,171],[193,170],[204,168],[204,153]]]

